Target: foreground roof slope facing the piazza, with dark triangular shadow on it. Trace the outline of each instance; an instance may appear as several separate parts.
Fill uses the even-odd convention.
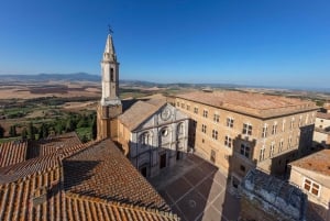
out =
[[[66,158],[63,165],[66,191],[169,211],[110,140]]]

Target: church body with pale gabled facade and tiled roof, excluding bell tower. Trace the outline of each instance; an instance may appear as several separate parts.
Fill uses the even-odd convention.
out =
[[[188,151],[188,118],[164,99],[138,101],[118,118],[119,143],[145,177],[173,166]]]

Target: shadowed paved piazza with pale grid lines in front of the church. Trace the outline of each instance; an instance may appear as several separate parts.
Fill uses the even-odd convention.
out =
[[[150,181],[183,221],[239,218],[239,199],[227,190],[227,178],[216,166],[196,155],[189,154]]]

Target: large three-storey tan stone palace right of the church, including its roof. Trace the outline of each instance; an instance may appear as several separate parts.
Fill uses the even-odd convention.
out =
[[[238,91],[197,91],[172,97],[190,117],[189,145],[237,187],[258,167],[280,175],[287,163],[309,153],[314,102]]]

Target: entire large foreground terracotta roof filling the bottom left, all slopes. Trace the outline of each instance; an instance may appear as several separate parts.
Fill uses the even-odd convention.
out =
[[[0,220],[179,220],[110,140],[0,168]]]

